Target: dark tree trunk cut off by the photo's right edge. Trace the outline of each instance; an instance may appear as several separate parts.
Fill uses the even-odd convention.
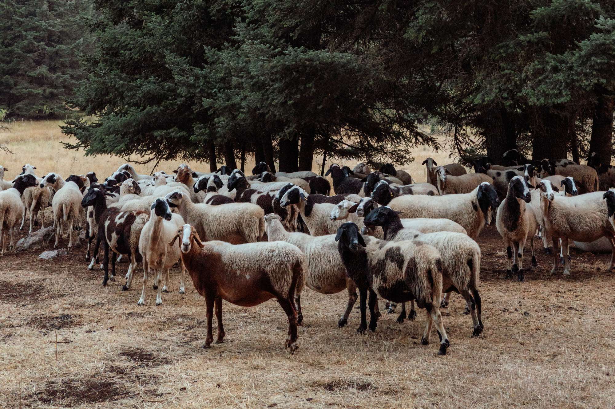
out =
[[[596,152],[600,163],[611,164],[613,149],[613,97],[599,95],[593,112],[592,139],[589,142],[589,153]]]

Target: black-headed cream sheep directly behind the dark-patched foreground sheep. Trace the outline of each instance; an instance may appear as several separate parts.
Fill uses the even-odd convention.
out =
[[[410,219],[413,220],[413,219]],[[442,290],[446,293],[442,307],[448,305],[452,291],[461,294],[466,300],[467,311],[472,315],[474,332],[472,337],[478,337],[484,327],[482,322],[481,300],[478,294],[480,281],[480,247],[465,233],[458,232],[426,232],[404,227],[402,219],[391,208],[382,206],[371,211],[365,217],[366,226],[383,228],[384,240],[420,240],[434,246],[442,255]],[[392,307],[394,308],[394,306]],[[405,305],[397,322],[403,322],[406,316]],[[410,311],[410,319],[416,316],[414,302]]]

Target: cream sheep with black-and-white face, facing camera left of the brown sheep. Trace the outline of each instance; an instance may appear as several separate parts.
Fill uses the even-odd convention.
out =
[[[169,292],[169,270],[180,259],[179,247],[169,246],[169,242],[177,235],[177,230],[184,225],[184,220],[179,214],[171,212],[169,203],[164,198],[157,198],[151,205],[149,220],[143,226],[139,236],[139,251],[143,259],[143,289],[137,305],[145,305],[145,288],[148,286],[149,269],[157,273],[154,276],[154,287],[158,290],[156,305],[162,305],[162,292]],[[161,286],[162,271],[165,272],[164,287]],[[135,271],[130,270],[126,284],[122,290],[130,289]],[[185,273],[181,269],[180,294],[185,294]]]

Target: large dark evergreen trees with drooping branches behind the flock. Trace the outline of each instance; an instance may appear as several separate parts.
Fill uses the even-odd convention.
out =
[[[68,76],[65,101],[97,120],[63,131],[87,154],[212,169],[253,155],[280,171],[311,169],[322,154],[402,163],[410,147],[439,147],[418,127],[427,120],[450,131],[461,157],[498,163],[517,148],[534,159],[611,160],[612,1],[84,4],[72,10],[94,46],[66,39],[85,80],[76,87],[81,77]],[[9,84],[14,72],[2,87],[23,90]],[[9,115],[22,101],[11,94]]]

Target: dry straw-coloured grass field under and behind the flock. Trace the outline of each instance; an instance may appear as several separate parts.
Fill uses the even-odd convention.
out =
[[[39,174],[68,175],[75,168],[105,174],[123,163],[65,152],[49,127],[20,135],[17,128],[8,141],[0,136],[15,152],[0,154],[0,164],[30,162]],[[414,155],[419,164],[432,153]],[[471,320],[453,295],[443,310],[451,341],[443,357],[435,333],[431,345],[419,345],[423,311],[403,324],[384,314],[375,333],[358,335],[358,303],[339,329],[345,295],[307,289],[296,354],[283,348],[287,320],[273,300],[255,308],[224,302],[224,343],[201,349],[205,302],[191,283],[178,294],[177,268],[164,305],[154,306],[150,288],[146,305],[137,306],[139,279],[121,291],[126,263],[118,265],[117,281],[102,287],[83,248],[52,262],[38,260],[40,250],[9,252],[0,258],[0,407],[615,407],[608,255],[573,251],[573,274],[563,278],[561,268],[549,277],[551,259],[540,252],[539,267],[518,283],[502,279],[504,248],[494,227],[478,243],[485,332],[470,338]]]

